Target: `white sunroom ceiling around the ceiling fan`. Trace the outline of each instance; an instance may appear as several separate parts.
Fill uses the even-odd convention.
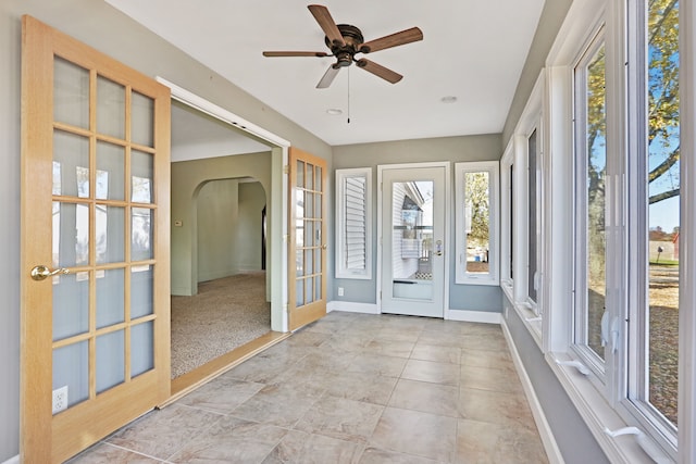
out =
[[[334,21],[358,26],[365,41],[413,26],[424,39],[365,57],[402,74],[395,85],[350,66],[328,89],[316,89],[333,58],[261,55],[328,52],[307,1],[105,1],[332,146],[500,133],[544,7],[544,0],[325,0]],[[457,101],[442,102],[449,96]]]

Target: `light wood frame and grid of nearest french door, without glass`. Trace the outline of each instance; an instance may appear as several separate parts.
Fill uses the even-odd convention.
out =
[[[21,259],[21,443],[23,462],[63,462],[80,450],[151,410],[170,396],[170,105],[169,88],[156,83],[90,47],[30,17],[23,17],[22,49],[22,259]],[[53,71],[54,59],[60,57],[89,75],[89,126],[77,127],[54,121]],[[95,99],[97,76],[103,76],[125,89],[125,127],[130,127],[132,91],[152,101],[152,145],[139,146],[130,140],[129,128],[123,139],[99,134],[96,128]],[[53,137],[60,130],[89,140],[88,170],[96,171],[95,147],[97,141],[122,147],[125,153],[137,150],[152,158],[150,203],[137,203],[135,199],[98,200],[94,197],[95,175],[90,174],[88,198],[53,195]],[[126,154],[126,160],[129,154]],[[125,165],[125,191],[129,191],[129,164]],[[128,180],[126,180],[128,179]],[[99,265],[90,252],[89,262],[66,268],[70,274],[82,273],[88,277],[89,329],[78,334],[88,343],[89,394],[84,401],[67,410],[52,414],[52,359],[53,350],[67,343],[53,340],[53,289],[49,277],[37,281],[30,277],[36,265],[50,266],[52,256],[52,204],[53,202],[84,204],[94,212],[96,205],[123,208],[125,258],[122,263]],[[142,201],[142,200],[138,200]],[[101,208],[99,206],[99,208]],[[149,210],[152,230],[151,259],[133,258],[129,253],[132,236],[132,209]],[[90,213],[89,228],[95,227]],[[95,233],[89,233],[94,240]],[[94,244],[90,244],[94,247]],[[152,272],[151,314],[130,319],[129,274],[136,267],[150,266]],[[122,384],[97,392],[95,346],[100,329],[96,328],[96,273],[110,268],[123,268],[124,287],[123,323],[109,330],[124,333],[124,376]],[[136,375],[130,371],[130,328],[138,324],[151,324],[152,366]],[[75,337],[73,337],[75,338]]]

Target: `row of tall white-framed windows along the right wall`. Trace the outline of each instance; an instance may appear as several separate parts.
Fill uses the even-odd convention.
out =
[[[573,2],[544,71],[543,117],[533,122],[533,91],[502,163],[504,190],[514,185],[504,247],[515,244],[505,294],[532,335],[530,310],[544,315],[539,347],[612,462],[696,457],[696,355],[679,349],[696,339],[684,311],[696,292],[680,286],[694,268],[693,217],[682,216],[696,211],[681,156],[694,145],[693,121],[681,124],[694,76],[681,80],[680,66],[694,59],[679,40],[694,26],[680,22],[681,3]],[[622,427],[639,439],[606,432]]]

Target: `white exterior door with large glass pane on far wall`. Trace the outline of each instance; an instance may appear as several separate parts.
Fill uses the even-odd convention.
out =
[[[445,316],[447,166],[380,166],[381,310]]]

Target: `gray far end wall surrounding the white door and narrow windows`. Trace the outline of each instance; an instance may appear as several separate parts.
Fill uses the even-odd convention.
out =
[[[502,152],[500,135],[481,135],[462,137],[443,137],[434,139],[398,140],[378,143],[360,143],[334,147],[334,168],[372,167],[373,168],[373,204],[372,204],[372,247],[377,250],[377,171],[382,164],[420,163],[426,161],[448,161],[451,163],[464,161],[499,160]],[[455,172],[451,170],[450,183],[455,185]],[[451,189],[451,211],[455,217],[455,190]],[[333,205],[333,203],[332,203]],[[333,208],[332,208],[333,211]],[[334,217],[332,217],[334,220]],[[453,244],[455,224],[450,224],[450,241]],[[332,240],[335,240],[332,237]],[[500,312],[502,309],[502,293],[498,287],[473,286],[455,284],[456,250],[448,247],[450,254],[449,309],[485,312]],[[373,260],[371,280],[335,279],[335,301],[356,303],[376,303],[377,263]],[[334,269],[331,271],[334,274]],[[344,296],[338,297],[337,288],[344,288]]]

